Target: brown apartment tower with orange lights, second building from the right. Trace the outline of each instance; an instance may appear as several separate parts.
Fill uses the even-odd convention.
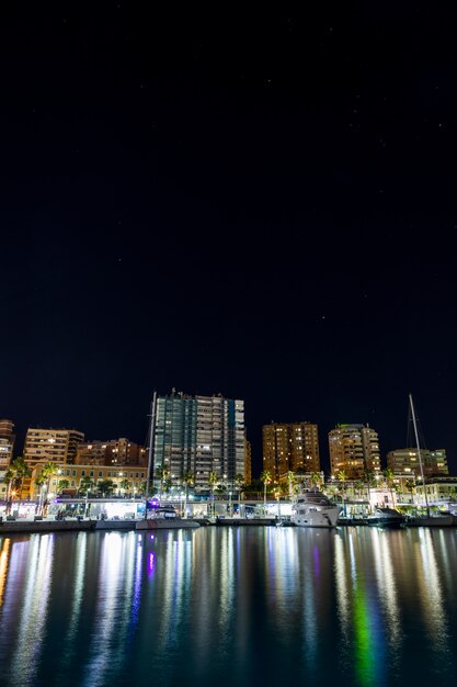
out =
[[[344,471],[350,480],[365,471],[380,472],[378,432],[368,425],[336,425],[329,432],[330,468],[336,476]]]

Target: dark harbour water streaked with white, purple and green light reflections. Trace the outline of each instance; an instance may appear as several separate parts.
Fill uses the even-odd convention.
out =
[[[0,684],[450,685],[457,531],[0,540]]]

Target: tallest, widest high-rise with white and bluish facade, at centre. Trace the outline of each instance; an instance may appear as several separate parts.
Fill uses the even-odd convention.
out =
[[[194,475],[196,492],[210,488],[209,474],[227,484],[244,475],[244,403],[173,392],[158,396],[153,418],[153,472],[165,470],[172,484]]]

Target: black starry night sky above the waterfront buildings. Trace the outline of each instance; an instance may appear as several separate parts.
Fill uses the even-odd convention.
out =
[[[144,442],[153,390],[457,472],[457,42],[434,3],[22,2],[1,22],[0,417]],[[298,3],[297,3],[298,4]]]

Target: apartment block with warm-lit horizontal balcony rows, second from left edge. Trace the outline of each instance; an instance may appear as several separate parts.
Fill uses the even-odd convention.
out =
[[[27,429],[24,443],[24,459],[28,463],[41,461],[75,463],[77,449],[84,440],[77,429]]]

